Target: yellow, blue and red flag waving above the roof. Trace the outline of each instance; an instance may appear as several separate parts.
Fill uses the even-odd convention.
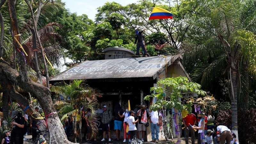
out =
[[[148,20],[172,19],[172,13],[160,7],[154,7]]]

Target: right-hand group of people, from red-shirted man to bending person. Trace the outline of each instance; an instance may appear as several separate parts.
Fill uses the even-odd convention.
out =
[[[193,113],[183,118],[184,135],[186,144],[188,144],[189,133],[191,135],[191,143],[195,144],[195,131],[198,130],[197,143],[200,144],[204,139],[205,144],[238,144],[236,135],[223,124],[218,124],[214,129],[215,117],[210,113],[208,116],[199,112],[197,116]],[[203,129],[204,120],[204,129]]]

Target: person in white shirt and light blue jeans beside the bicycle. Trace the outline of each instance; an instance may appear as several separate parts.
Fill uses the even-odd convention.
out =
[[[160,120],[161,120],[161,113],[158,111],[151,111],[149,115],[149,122],[151,126],[151,136],[152,136],[152,141],[150,142],[158,142],[158,137],[159,137],[159,125],[160,125]],[[155,130],[156,130],[156,138],[155,138]]]

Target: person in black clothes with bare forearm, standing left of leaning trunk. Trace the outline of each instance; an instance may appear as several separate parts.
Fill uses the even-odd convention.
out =
[[[25,118],[20,112],[14,110],[12,111],[12,144],[23,144],[23,128],[25,124]]]

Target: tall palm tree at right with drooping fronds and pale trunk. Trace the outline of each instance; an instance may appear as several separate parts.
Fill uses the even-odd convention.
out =
[[[219,53],[216,60],[205,68],[203,77],[224,69],[228,75],[228,88],[232,110],[232,132],[237,132],[237,98],[240,91],[243,62],[248,72],[256,77],[256,2],[253,0],[223,0],[202,3],[204,13],[185,19],[192,33],[190,41],[180,48],[186,56],[208,60],[208,56]],[[247,12],[250,11],[250,12]],[[250,31],[251,30],[251,31]],[[238,137],[237,137],[238,139]]]

